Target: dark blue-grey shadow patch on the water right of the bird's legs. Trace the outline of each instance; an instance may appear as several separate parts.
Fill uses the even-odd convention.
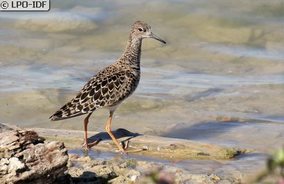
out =
[[[162,136],[188,140],[204,140],[224,134],[230,129],[244,125],[246,125],[245,122],[201,122],[190,127],[177,125],[172,131]]]

